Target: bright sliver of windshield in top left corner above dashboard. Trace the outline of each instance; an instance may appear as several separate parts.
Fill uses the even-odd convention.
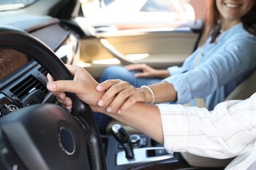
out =
[[[0,10],[22,9],[39,0],[1,0]]]

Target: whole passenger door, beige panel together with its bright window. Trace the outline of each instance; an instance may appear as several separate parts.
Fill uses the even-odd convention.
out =
[[[198,7],[202,9],[204,1],[119,0],[76,18],[90,37],[81,41],[83,65],[95,78],[116,64],[146,63],[158,69],[182,65],[202,31],[204,10],[194,10]]]

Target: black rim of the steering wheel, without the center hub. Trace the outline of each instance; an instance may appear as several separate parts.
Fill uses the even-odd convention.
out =
[[[53,50],[26,31],[1,25],[0,37],[1,48],[11,48],[28,55],[44,67],[53,76],[54,80],[73,80],[70,71],[54,54]],[[80,101],[74,93],[67,93],[67,95],[72,99],[73,103],[71,113],[74,116],[86,118],[86,123],[90,128],[87,141],[87,156],[91,169],[107,169],[100,134],[98,133],[93,114],[91,114],[91,108],[86,103]]]

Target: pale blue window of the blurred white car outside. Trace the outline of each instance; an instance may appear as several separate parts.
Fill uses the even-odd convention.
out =
[[[169,0],[148,0],[143,5],[140,12],[173,12]]]

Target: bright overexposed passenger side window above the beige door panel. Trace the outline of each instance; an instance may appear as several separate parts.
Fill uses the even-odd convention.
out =
[[[177,27],[202,20],[203,3],[198,0],[80,0],[83,16],[93,27],[105,25],[161,25]],[[206,1],[206,0],[205,0]],[[102,6],[101,3],[109,3]],[[136,26],[137,27],[137,26]],[[144,26],[143,26],[144,27]],[[122,28],[123,29],[123,28]]]

